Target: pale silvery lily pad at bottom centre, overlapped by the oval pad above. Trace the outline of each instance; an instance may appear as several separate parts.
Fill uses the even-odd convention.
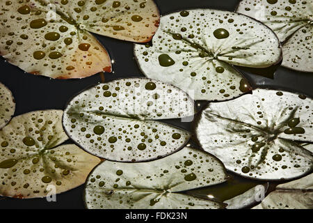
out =
[[[216,157],[185,147],[152,162],[102,162],[88,177],[84,198],[90,209],[223,208],[223,203],[184,192],[226,179]]]

